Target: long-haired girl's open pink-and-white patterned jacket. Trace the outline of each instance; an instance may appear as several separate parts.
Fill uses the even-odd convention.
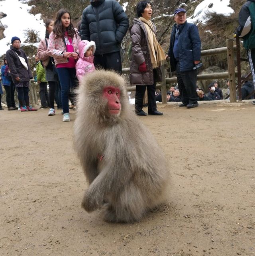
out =
[[[73,50],[79,55],[78,45],[80,42],[80,36],[78,35],[78,30],[75,29],[75,31],[76,34],[73,37]],[[64,39],[56,38],[54,32],[51,32],[51,34],[49,35],[48,53],[49,56],[54,58],[56,66],[57,64],[68,62],[68,58],[63,57],[64,52],[66,52]]]

